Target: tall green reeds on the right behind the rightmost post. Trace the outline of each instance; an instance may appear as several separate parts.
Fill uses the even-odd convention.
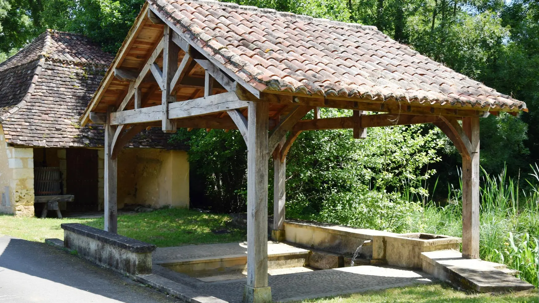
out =
[[[480,257],[519,271],[517,277],[539,285],[539,167],[527,178],[512,178],[483,170],[480,182]],[[522,182],[523,181],[523,182]],[[523,186],[521,185],[523,184]],[[462,236],[462,182],[448,187],[447,202],[424,203],[421,214],[412,214],[410,232]],[[424,198],[423,198],[424,199]],[[416,197],[416,202],[417,202]],[[420,200],[419,200],[420,201]]]

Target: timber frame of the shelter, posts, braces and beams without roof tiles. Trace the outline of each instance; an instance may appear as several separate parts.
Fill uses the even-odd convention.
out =
[[[113,77],[128,83],[118,106],[109,106],[107,113],[89,113],[94,123],[103,123],[106,128],[106,230],[117,231],[116,161],[119,151],[142,129],[161,127],[163,132],[175,132],[178,127],[238,129],[248,150],[246,292],[252,293],[256,288],[268,287],[267,163],[270,154],[275,166],[273,236],[282,240],[285,238],[286,156],[301,132],[350,128],[354,130],[354,138],[361,139],[367,136],[370,127],[433,123],[453,141],[462,155],[462,251],[466,257],[479,257],[479,118],[488,113],[475,109],[412,106],[398,101],[261,93],[215,58],[203,56],[205,52],[200,46],[157,11],[151,11],[153,8],[146,10],[143,16],[162,26],[162,38],[138,71],[113,66]],[[139,20],[135,26],[140,24]],[[192,70],[200,67],[204,70],[204,78],[191,77]],[[148,84],[151,88],[143,93],[141,87]],[[186,100],[178,100],[178,92],[187,88],[195,88],[195,93]],[[161,103],[151,105],[149,100],[158,91],[161,91]],[[353,115],[321,118],[320,107],[352,109]],[[314,119],[303,119],[310,111],[314,111]],[[365,115],[363,111],[379,114]]]

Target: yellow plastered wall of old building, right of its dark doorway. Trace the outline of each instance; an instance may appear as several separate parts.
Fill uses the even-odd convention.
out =
[[[99,199],[104,201],[104,153],[99,151]],[[126,204],[189,208],[189,162],[183,150],[123,149],[118,155],[118,209]],[[101,206],[102,209],[102,206]]]

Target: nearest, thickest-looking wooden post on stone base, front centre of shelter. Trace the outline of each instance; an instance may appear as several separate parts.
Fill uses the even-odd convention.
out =
[[[246,303],[272,302],[267,254],[268,108],[266,102],[248,104]]]

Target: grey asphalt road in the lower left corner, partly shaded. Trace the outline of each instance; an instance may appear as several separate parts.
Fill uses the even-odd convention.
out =
[[[0,236],[0,303],[3,302],[181,301],[45,243]]]

